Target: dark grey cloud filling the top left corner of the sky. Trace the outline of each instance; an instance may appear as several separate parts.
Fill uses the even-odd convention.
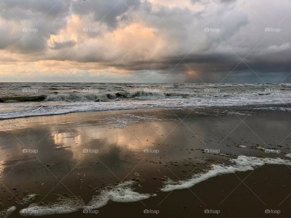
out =
[[[64,2],[64,3],[63,3]],[[0,17],[7,23],[0,24],[0,48],[12,52],[39,55],[48,48],[46,40],[67,25],[70,10],[66,1],[58,0],[3,0]],[[69,1],[67,1],[69,2]],[[26,30],[26,31],[25,31]]]

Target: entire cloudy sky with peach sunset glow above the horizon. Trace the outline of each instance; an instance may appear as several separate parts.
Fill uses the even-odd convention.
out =
[[[291,82],[290,0],[1,0],[0,82]]]

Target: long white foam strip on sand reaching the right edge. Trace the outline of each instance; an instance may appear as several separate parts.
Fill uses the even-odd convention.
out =
[[[258,158],[258,157],[247,157],[247,156],[238,156],[237,159],[230,159],[232,163],[236,165],[222,165],[222,164],[212,164],[211,169],[205,173],[194,174],[191,179],[173,181],[168,180],[165,183],[165,186],[161,188],[163,192],[169,192],[172,190],[186,189],[190,188],[197,183],[208,180],[209,178],[216,177],[218,175],[236,173],[236,172],[245,172],[248,170],[254,170],[256,167],[263,166],[264,164],[285,164],[291,165],[290,160],[284,160],[281,158]]]

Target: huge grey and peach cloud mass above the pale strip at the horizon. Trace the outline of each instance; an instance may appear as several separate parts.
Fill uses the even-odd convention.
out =
[[[66,55],[66,60],[99,63],[102,69],[115,67],[157,74],[171,71],[171,74],[185,75],[192,70],[207,81],[212,81],[214,74],[221,75],[213,76],[216,80],[223,79],[232,70],[232,79],[248,73],[266,73],[269,79],[272,73],[283,76],[291,68],[291,27],[288,25],[291,15],[287,16],[287,6],[290,8],[291,3],[287,0],[282,4],[248,1],[248,5],[236,5],[236,0],[189,0],[203,6],[197,12],[179,5],[157,6],[146,0],[2,2],[0,49],[27,54],[35,61],[58,60],[57,57]],[[71,16],[81,20],[67,33]],[[129,30],[122,36],[116,33],[134,23],[139,23],[141,29]],[[99,30],[84,31],[84,27]],[[138,43],[143,27],[159,31]],[[37,31],[23,31],[23,28]],[[265,31],[265,28],[280,31]],[[68,36],[51,39],[61,31]]]

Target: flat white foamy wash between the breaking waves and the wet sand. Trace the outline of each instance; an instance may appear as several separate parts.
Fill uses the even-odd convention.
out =
[[[284,100],[285,101],[285,100]],[[291,96],[285,101],[291,102]],[[42,101],[39,102],[14,102],[0,104],[0,119],[17,117],[43,116],[67,114],[82,111],[112,111],[145,109],[159,107],[211,107],[211,106],[239,106],[252,104],[277,104],[277,98],[164,98],[126,101]],[[42,104],[40,106],[40,104]]]

